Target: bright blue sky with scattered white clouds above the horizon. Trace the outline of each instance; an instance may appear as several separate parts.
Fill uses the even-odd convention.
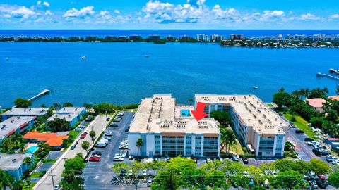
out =
[[[1,29],[339,29],[338,0],[0,0]]]

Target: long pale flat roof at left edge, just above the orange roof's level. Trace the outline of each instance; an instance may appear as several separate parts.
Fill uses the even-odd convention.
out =
[[[3,122],[0,122],[0,139],[4,139],[5,137],[13,134],[16,132],[18,127],[25,127],[28,122],[34,119],[35,117],[32,116],[13,116]]]

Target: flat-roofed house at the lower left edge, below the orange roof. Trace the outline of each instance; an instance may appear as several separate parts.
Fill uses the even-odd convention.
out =
[[[31,158],[32,164],[23,163],[25,158]],[[21,179],[24,172],[34,164],[34,156],[31,153],[0,153],[0,169],[15,177]]]

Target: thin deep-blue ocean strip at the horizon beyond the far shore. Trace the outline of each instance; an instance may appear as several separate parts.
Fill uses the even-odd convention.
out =
[[[261,36],[275,36],[278,34],[339,34],[339,30],[0,30],[0,36],[89,36],[96,35],[105,37],[107,35],[114,36],[129,36],[133,34],[148,37],[150,34],[158,34],[162,37],[188,35],[196,37],[196,34],[221,34],[224,37],[229,37],[230,34],[244,34],[245,37],[261,37]]]

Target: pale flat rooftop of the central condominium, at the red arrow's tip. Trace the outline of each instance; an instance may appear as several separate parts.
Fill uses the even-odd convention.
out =
[[[169,94],[143,99],[129,133],[220,134],[213,118],[199,122],[193,117],[180,118],[175,115],[175,108],[175,99]]]

